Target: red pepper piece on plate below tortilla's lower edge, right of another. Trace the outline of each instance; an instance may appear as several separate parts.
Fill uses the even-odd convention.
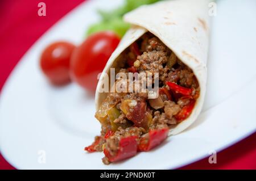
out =
[[[138,146],[138,150],[149,151],[152,148],[155,148],[167,138],[168,131],[169,131],[168,128],[156,129],[156,130],[151,129],[147,137],[142,136],[141,142]]]

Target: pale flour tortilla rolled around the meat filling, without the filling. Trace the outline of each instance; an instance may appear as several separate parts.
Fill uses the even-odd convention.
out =
[[[107,62],[104,73],[115,68],[120,54],[144,33],[150,31],[158,37],[179,59],[193,70],[199,85],[200,96],[191,115],[170,129],[177,134],[188,128],[199,116],[203,107],[207,82],[207,56],[209,40],[208,0],[161,1],[153,5],[141,6],[124,16],[132,24],[117,49]],[[105,100],[107,93],[100,93],[103,76],[97,85],[96,110]]]

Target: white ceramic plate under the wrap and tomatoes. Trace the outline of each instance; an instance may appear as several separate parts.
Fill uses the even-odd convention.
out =
[[[0,99],[0,149],[18,169],[174,169],[207,157],[256,130],[256,2],[217,1],[212,20],[208,90],[204,110],[189,129],[164,144],[119,163],[84,146],[100,132],[94,99],[72,84],[50,86],[38,65],[48,43],[80,43],[96,9],[122,1],[88,1],[56,23],[28,50],[11,73]],[[42,163],[45,156],[45,163]]]

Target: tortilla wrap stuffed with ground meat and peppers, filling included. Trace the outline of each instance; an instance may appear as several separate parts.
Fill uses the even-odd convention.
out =
[[[162,1],[124,16],[132,27],[96,90],[101,135],[85,150],[104,151],[109,164],[155,148],[196,120],[207,80],[208,3]]]

